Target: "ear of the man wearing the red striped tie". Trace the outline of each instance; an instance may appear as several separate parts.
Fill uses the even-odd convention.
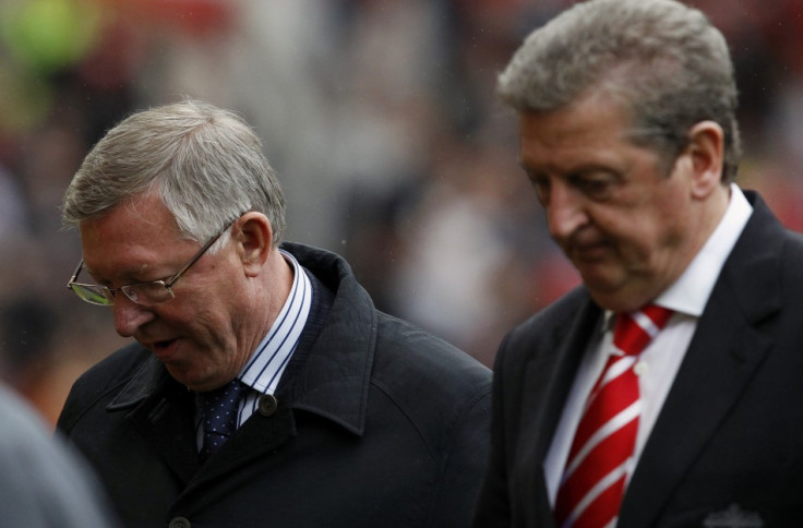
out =
[[[684,152],[692,160],[692,193],[706,199],[722,184],[724,132],[714,121],[700,121],[688,131]]]

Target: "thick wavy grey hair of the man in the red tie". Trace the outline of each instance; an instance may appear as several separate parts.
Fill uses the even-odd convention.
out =
[[[724,131],[724,183],[741,155],[728,44],[700,11],[674,0],[589,0],[534,31],[499,76],[518,111],[555,110],[590,89],[631,112],[634,142],[674,159],[705,120]]]

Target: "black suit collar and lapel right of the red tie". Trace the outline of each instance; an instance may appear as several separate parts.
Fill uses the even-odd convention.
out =
[[[621,526],[652,526],[772,339],[760,324],[780,308],[783,230],[760,201],[717,280],[622,505]]]

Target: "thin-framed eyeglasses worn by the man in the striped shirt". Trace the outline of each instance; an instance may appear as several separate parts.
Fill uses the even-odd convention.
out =
[[[82,259],[81,262],[79,262],[79,267],[75,268],[75,273],[72,274],[70,281],[67,284],[67,287],[73,290],[82,300],[91,304],[98,304],[101,307],[113,305],[115,296],[118,291],[122,291],[123,295],[125,295],[125,297],[128,297],[132,302],[142,304],[143,307],[151,307],[153,304],[169,301],[176,297],[172,292],[172,287],[176,286],[176,283],[178,283],[184,273],[187,273],[187,271],[190,269],[192,265],[204,255],[204,253],[206,253],[206,250],[208,250],[229,227],[231,227],[233,221],[235,220],[228,223],[220,232],[212,237],[179,273],[167,279],[152,280],[149,283],[133,283],[120,286],[119,288],[109,288],[108,286],[96,284],[76,283],[75,280],[79,278],[79,274],[84,267],[84,261]]]

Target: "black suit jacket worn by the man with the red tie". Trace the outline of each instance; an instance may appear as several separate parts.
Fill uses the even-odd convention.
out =
[[[803,526],[803,239],[745,194],[753,215],[633,473],[620,528]],[[580,287],[505,337],[476,527],[554,526],[542,463],[601,315]],[[729,517],[745,524],[722,524]]]

